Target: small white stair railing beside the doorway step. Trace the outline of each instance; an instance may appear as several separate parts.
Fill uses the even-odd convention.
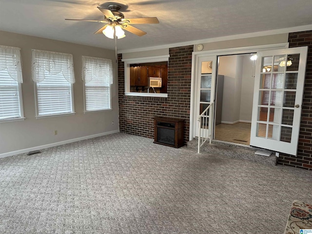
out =
[[[212,126],[213,126],[213,113],[214,113],[215,103],[211,102],[209,106],[200,114],[197,118],[198,124],[198,150],[197,153],[200,153],[200,147],[209,139],[211,144],[212,140]],[[209,115],[208,115],[209,114]],[[207,131],[208,127],[208,131]]]

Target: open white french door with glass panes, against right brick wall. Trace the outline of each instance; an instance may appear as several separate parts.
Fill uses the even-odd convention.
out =
[[[307,51],[257,53],[250,145],[297,154]]]

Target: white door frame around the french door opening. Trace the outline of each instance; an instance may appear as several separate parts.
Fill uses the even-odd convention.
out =
[[[197,115],[196,105],[198,97],[198,64],[199,58],[201,57],[214,57],[214,56],[223,56],[223,55],[235,55],[235,54],[248,54],[256,53],[264,50],[274,50],[274,49],[284,49],[288,48],[289,43],[278,43],[278,44],[269,44],[269,45],[257,45],[257,46],[248,46],[248,47],[239,47],[239,48],[229,48],[229,49],[219,49],[219,50],[210,50],[210,51],[199,51],[192,53],[192,74],[191,74],[191,104],[190,104],[190,133],[189,140],[193,140],[195,137],[195,131],[197,124]],[[215,64],[216,65],[216,64]],[[216,74],[216,68],[214,74]],[[214,78],[216,80],[216,78]],[[213,115],[215,116],[215,114]],[[213,130],[214,131],[214,130]]]

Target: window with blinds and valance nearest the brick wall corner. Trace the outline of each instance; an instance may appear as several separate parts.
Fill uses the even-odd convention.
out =
[[[85,112],[111,109],[112,60],[82,56],[82,80]]]

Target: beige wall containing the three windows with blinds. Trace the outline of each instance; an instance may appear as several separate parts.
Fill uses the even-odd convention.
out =
[[[0,45],[21,48],[22,98],[24,117],[26,117],[24,121],[0,123],[0,156],[4,153],[41,145],[118,131],[117,63],[114,51],[3,31],[0,31]],[[74,84],[75,115],[36,119],[34,82],[31,79],[31,49],[73,55],[76,78]],[[83,113],[82,55],[112,59],[114,69],[112,111]],[[54,130],[58,131],[58,135],[54,136]]]

